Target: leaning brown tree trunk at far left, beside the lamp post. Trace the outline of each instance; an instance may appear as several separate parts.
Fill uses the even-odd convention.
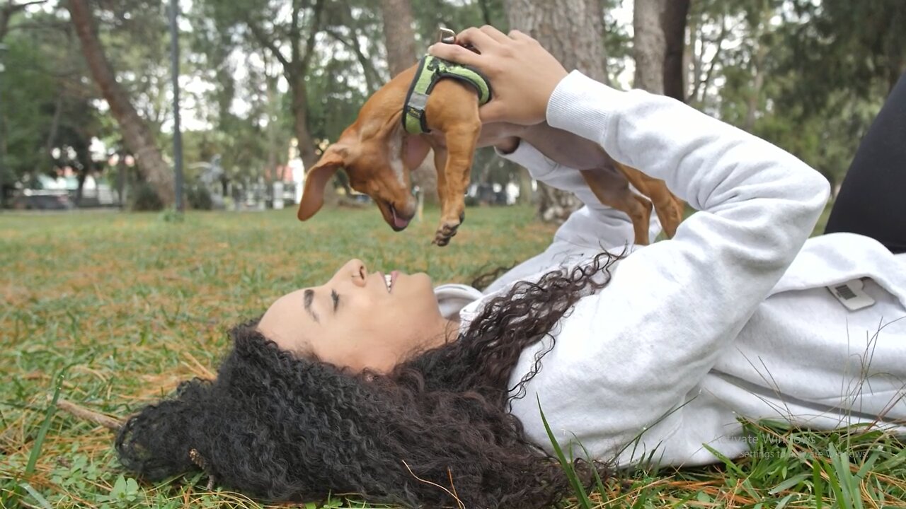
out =
[[[175,200],[173,170],[161,156],[154,136],[132,106],[129,95],[116,81],[116,74],[104,55],[103,46],[95,31],[88,0],[69,0],[68,8],[75,32],[82,43],[85,62],[110,106],[113,118],[120,125],[122,138],[136,158],[142,177],[154,188],[164,205],[171,205]]]

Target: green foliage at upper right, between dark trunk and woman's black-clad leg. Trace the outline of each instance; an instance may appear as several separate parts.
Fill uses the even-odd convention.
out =
[[[693,3],[689,23],[699,51],[690,102],[789,150],[839,184],[890,76],[906,72],[906,60],[890,57],[891,47],[906,48],[902,31],[879,21],[900,19],[906,4],[889,2],[887,10],[882,4]],[[869,35],[867,26],[878,33]]]

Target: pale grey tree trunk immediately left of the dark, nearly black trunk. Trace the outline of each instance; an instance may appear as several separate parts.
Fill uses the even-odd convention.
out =
[[[664,54],[667,44],[660,25],[666,2],[672,0],[635,0],[632,13],[632,56],[635,78],[632,86],[652,93],[664,93]]]

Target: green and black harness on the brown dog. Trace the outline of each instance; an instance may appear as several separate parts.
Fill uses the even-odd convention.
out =
[[[486,104],[491,100],[491,85],[481,72],[467,65],[449,62],[431,55],[425,55],[419,61],[419,68],[415,71],[415,79],[409,86],[406,102],[403,103],[402,127],[410,134],[425,134],[428,129],[428,119],[425,115],[425,106],[428,96],[434,85],[444,78],[454,78],[460,82],[471,85],[478,92],[478,104]]]

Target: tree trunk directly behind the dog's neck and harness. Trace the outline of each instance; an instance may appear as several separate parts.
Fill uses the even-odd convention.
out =
[[[387,66],[390,76],[409,69],[416,62],[415,31],[412,29],[410,0],[381,0],[384,38],[387,45]],[[438,203],[438,172],[434,167],[434,152],[410,172],[412,184],[422,191],[425,202]]]

